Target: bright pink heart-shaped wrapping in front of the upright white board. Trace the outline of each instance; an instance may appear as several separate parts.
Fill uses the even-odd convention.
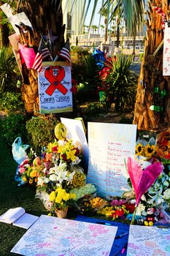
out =
[[[142,170],[134,159],[128,157],[127,167],[136,195],[136,206],[138,206],[142,195],[147,192],[147,189],[152,186],[156,178],[161,174],[163,165],[161,162],[154,162]]]

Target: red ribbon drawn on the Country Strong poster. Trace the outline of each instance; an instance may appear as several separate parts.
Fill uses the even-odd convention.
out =
[[[55,91],[55,89],[58,89],[58,91],[61,91],[61,93],[65,95],[68,90],[66,89],[66,87],[64,87],[61,84],[61,81],[63,80],[64,77],[65,77],[65,70],[63,67],[50,66],[47,69],[45,69],[45,78],[50,82],[50,86],[45,91],[46,94],[51,96]]]

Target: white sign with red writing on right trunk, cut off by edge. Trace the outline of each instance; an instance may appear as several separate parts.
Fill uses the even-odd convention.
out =
[[[170,75],[170,27],[165,23],[163,39],[163,75]]]

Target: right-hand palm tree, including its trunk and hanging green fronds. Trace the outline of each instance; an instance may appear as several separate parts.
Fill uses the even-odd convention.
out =
[[[161,127],[168,127],[170,123],[170,99],[168,97],[170,89],[167,86],[168,78],[162,75],[163,50],[159,50],[155,56],[155,50],[163,40],[163,29],[161,17],[152,9],[152,5],[162,6],[163,12],[167,13],[170,4],[168,0],[148,0],[147,2],[149,4],[147,37],[136,93],[134,124],[137,124],[138,129],[158,130]],[[105,1],[104,8],[106,9],[107,4],[108,1]],[[120,7],[120,14],[125,20],[128,34],[135,36],[136,30],[144,19],[144,0],[110,0],[109,7],[114,9],[113,15]],[[159,94],[155,93],[157,90],[160,91]],[[157,109],[157,111],[151,109]]]

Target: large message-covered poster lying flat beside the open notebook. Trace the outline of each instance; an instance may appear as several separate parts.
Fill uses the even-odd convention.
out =
[[[42,215],[11,252],[31,256],[109,256],[117,227]]]

